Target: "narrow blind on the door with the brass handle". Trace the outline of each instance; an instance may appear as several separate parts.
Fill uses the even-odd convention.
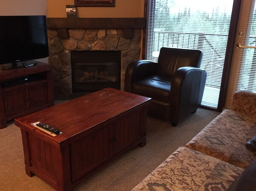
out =
[[[247,23],[243,31],[241,45],[250,48],[241,48],[236,70],[235,86],[237,90],[256,92],[256,5],[251,1],[250,10],[247,12]],[[251,47],[252,46],[252,47]],[[253,48],[254,46],[254,48]]]

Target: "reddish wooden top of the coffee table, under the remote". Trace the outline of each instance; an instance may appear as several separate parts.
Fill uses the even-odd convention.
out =
[[[55,105],[53,107],[15,119],[15,125],[36,134],[62,142],[76,134],[105,123],[119,114],[133,108],[148,104],[151,98],[105,88],[101,91],[76,98],[74,100]],[[52,136],[31,125],[40,121],[55,128],[62,134]]]

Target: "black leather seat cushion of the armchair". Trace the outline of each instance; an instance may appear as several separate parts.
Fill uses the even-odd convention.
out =
[[[171,77],[151,76],[133,84],[133,93],[169,103]]]

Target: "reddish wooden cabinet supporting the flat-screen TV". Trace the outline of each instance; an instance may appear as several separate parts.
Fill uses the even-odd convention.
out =
[[[37,61],[35,66],[0,70],[0,129],[9,120],[54,105],[52,69]],[[17,83],[25,78],[30,80]]]

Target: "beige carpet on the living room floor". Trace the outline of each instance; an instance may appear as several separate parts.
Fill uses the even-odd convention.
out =
[[[74,191],[130,191],[179,146],[184,146],[219,113],[199,108],[185,121],[170,123],[148,117],[147,145],[117,157]],[[52,191],[37,176],[25,174],[20,129],[13,122],[0,130],[0,191]]]

